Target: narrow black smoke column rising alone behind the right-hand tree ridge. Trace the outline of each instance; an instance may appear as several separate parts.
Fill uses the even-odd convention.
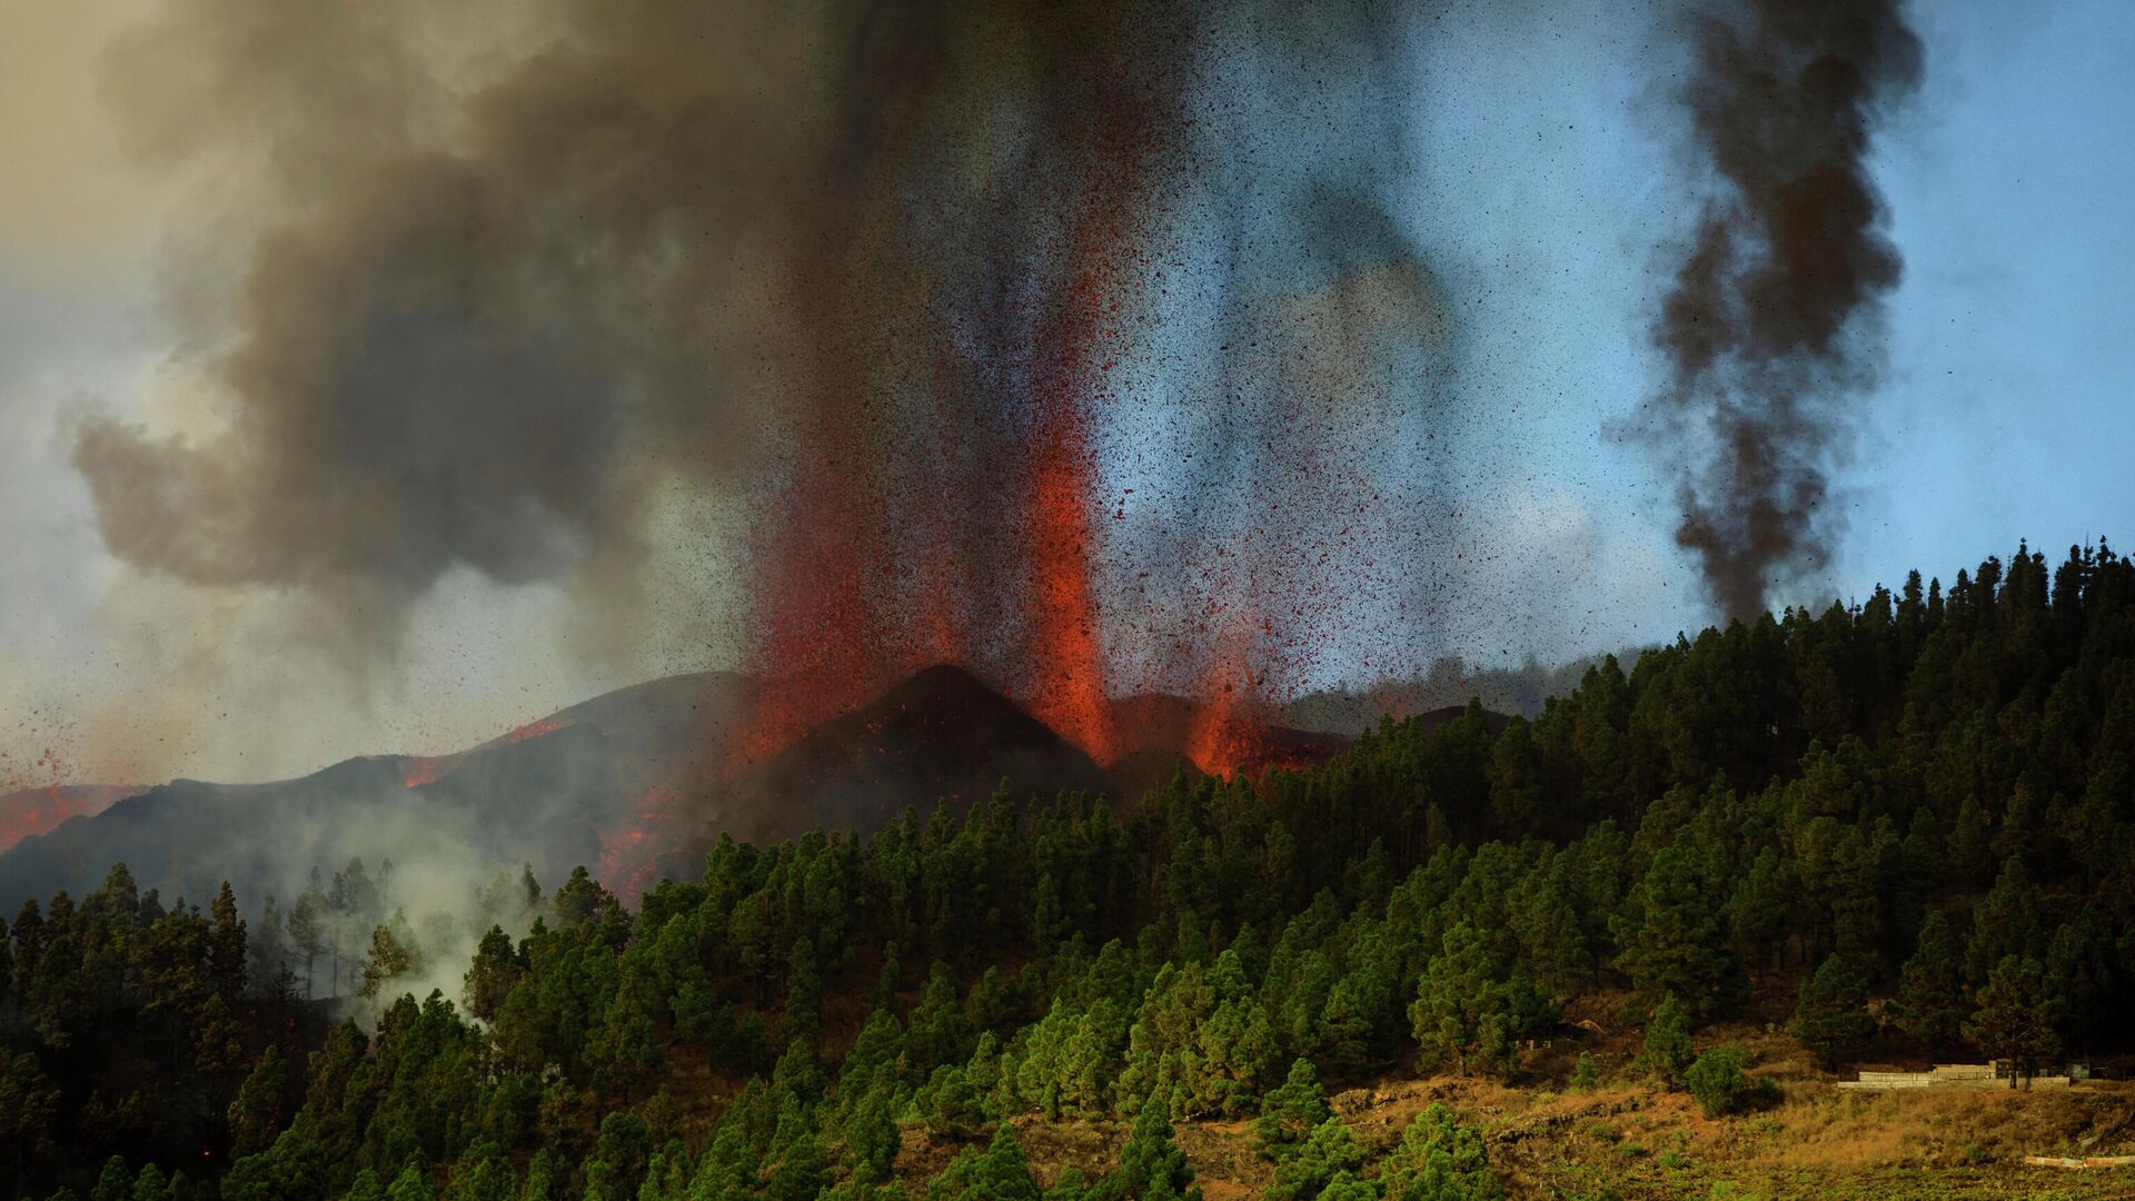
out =
[[[1655,340],[1655,430],[1682,470],[1676,543],[1723,615],[1823,566],[1830,459],[1875,383],[1864,350],[1898,250],[1864,162],[1881,109],[1919,81],[1894,0],[1753,0],[1695,19],[1685,90],[1706,201]]]

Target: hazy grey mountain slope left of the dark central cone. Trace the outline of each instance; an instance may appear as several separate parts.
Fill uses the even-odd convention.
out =
[[[350,857],[431,872],[529,861],[643,874],[649,808],[702,795],[754,682],[692,673],[619,688],[476,748],[374,754],[269,784],[173,780],[23,838],[0,855],[0,904],[81,893],[124,861],[141,887],[201,900],[228,878],[292,895]]]

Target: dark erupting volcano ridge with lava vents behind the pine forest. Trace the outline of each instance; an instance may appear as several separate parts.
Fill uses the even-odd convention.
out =
[[[199,900],[222,878],[288,898],[312,868],[350,857],[523,859],[542,880],[585,863],[636,895],[660,874],[694,876],[722,833],[766,842],[820,825],[865,836],[905,808],[961,814],[1003,784],[1018,799],[1061,789],[1132,799],[1181,769],[1251,776],[1349,744],[1142,695],[1110,703],[1117,757],[1097,763],[974,673],[939,665],[743,759],[762,692],[752,675],[673,675],[453,754],[367,754],[269,784],[62,789],[81,812],[53,810],[51,791],[36,791],[23,812],[41,829],[0,853],[0,904],[92,889],[115,861],[167,898]],[[1221,763],[1204,763],[1211,731]]]

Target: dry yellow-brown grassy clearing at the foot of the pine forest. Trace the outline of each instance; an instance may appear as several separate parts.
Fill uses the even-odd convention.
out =
[[[1392,1079],[1332,1098],[1377,1156],[1430,1103],[1454,1109],[1490,1148],[1507,1195],[1565,1201],[1778,1201],[2135,1197],[2135,1169],[2026,1167],[2026,1154],[2135,1152],[2135,1086],[2037,1092],[1836,1092],[1781,1081],[1781,1101],[1708,1120],[1678,1092],[1612,1086],[1586,1094],[1482,1079]],[[1042,1182],[1068,1165],[1100,1173],[1125,1130],[1091,1122],[1016,1122]],[[1243,1201],[1272,1169],[1253,1156],[1251,1122],[1181,1122],[1208,1201]],[[905,1133],[899,1175],[924,1188],[956,1145]]]

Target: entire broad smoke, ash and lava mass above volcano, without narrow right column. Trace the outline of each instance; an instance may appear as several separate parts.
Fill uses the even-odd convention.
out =
[[[241,263],[179,293],[216,421],[81,425],[105,543],[363,654],[463,568],[628,626],[679,481],[752,509],[745,750],[961,660],[1104,757],[1119,677],[1251,671],[1428,528],[1343,459],[1398,474],[1441,350],[1379,194],[1411,9],[173,2],[113,92],[164,160],[265,145],[265,233],[179,248]],[[1159,370],[1191,453],[1129,519]]]

